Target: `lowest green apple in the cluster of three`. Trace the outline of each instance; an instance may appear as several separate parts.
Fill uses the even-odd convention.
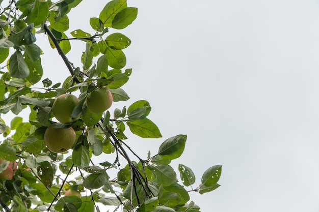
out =
[[[48,149],[54,153],[62,153],[76,143],[73,128],[55,128],[57,123],[50,125],[44,133],[44,142]]]

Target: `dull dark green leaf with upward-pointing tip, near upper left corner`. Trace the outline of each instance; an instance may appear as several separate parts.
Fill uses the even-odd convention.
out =
[[[12,34],[9,37],[9,40],[14,43],[16,46],[29,45],[36,42],[36,37],[32,33],[34,24],[31,23],[29,26],[26,26],[21,32],[17,34]],[[10,44],[9,44],[10,45]],[[0,47],[4,47],[1,46]]]

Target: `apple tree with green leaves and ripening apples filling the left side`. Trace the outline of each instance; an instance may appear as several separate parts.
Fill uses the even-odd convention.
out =
[[[2,210],[199,211],[189,192],[217,189],[222,167],[209,167],[197,186],[191,168],[173,168],[171,161],[187,141],[182,134],[164,139],[157,153],[138,156],[138,147],[127,145],[128,130],[142,138],[162,137],[147,118],[149,102],[112,107],[129,99],[121,87],[132,74],[123,51],[131,40],[120,30],[136,19],[138,9],[113,0],[96,8],[98,17],[88,18],[90,29],[69,30],[68,13],[81,1],[0,0]],[[38,43],[40,36],[47,42]],[[70,40],[85,43],[82,64],[68,59]],[[57,50],[69,72],[59,83],[42,77],[44,45]],[[5,120],[6,113],[15,116]],[[22,113],[29,114],[28,121]]]

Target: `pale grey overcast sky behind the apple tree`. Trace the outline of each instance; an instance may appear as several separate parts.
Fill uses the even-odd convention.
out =
[[[89,18],[106,3],[83,0],[69,14],[70,31],[94,34]],[[187,134],[172,166],[192,168],[196,185],[208,167],[223,165],[220,188],[191,194],[202,212],[318,211],[319,3],[137,0],[128,6],[139,9],[121,32],[132,40],[124,52],[133,72],[123,87],[131,99],[113,108],[148,100],[149,118],[163,135],[130,135],[131,148],[146,157],[165,139]],[[68,74],[62,59],[48,43],[38,45],[44,78],[61,81]],[[72,45],[67,56],[81,67],[84,42]]]

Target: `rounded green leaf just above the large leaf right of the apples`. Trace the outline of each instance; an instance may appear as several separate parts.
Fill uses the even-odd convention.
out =
[[[139,120],[146,118],[151,112],[151,109],[151,106],[146,100],[139,100],[127,108],[128,119]]]

